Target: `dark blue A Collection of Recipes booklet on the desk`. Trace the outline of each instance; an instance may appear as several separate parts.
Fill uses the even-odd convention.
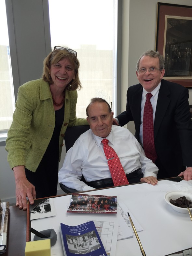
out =
[[[60,225],[65,256],[107,256],[93,221],[77,226]]]

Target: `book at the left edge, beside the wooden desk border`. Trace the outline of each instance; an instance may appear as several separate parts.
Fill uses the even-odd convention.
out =
[[[8,218],[9,202],[3,202],[0,204],[0,254],[6,252]]]

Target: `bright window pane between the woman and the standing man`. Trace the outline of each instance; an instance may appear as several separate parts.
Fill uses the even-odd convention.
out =
[[[77,51],[80,62],[77,117],[86,117],[93,97],[104,98],[116,111],[115,8],[115,0],[49,0],[51,47]]]

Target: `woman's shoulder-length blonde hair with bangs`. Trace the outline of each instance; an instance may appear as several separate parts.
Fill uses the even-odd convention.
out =
[[[49,53],[49,55],[45,58],[43,62],[43,74],[42,78],[44,81],[52,84],[52,78],[50,76],[50,68],[52,64],[58,63],[61,59],[68,58],[73,68],[75,69],[75,79],[72,79],[70,83],[67,85],[66,90],[75,91],[77,89],[81,89],[81,82],[79,80],[79,71],[78,68],[80,66],[79,61],[74,53],[68,52],[67,50],[54,50]]]

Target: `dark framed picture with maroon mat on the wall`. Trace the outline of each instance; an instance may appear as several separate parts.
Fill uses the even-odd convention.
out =
[[[165,58],[164,79],[192,87],[192,6],[157,3],[155,50]]]

